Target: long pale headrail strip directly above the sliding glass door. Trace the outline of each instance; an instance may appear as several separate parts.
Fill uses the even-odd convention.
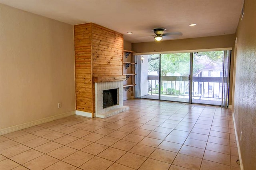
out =
[[[158,52],[146,52],[146,53],[132,53],[132,55],[148,55],[148,54],[168,54],[168,53],[193,53],[193,52],[206,52],[206,51],[225,51],[233,50],[232,47],[226,48],[212,48],[212,49],[190,49],[181,51],[158,51]]]

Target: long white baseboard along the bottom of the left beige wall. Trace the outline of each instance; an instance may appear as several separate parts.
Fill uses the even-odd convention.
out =
[[[15,125],[15,126],[8,127],[8,128],[3,128],[3,129],[0,129],[0,135],[7,134],[7,133],[10,133],[10,132],[15,132],[17,130],[22,130],[24,128],[33,127],[33,126],[36,126],[36,125],[40,125],[40,124],[43,124],[43,123],[54,121],[56,119],[60,119],[60,118],[63,118],[63,117],[68,117],[68,116],[71,116],[71,115],[74,115],[74,114],[75,114],[75,111],[70,111],[70,112],[67,112],[67,113],[62,113],[62,114],[59,114],[59,115],[46,117],[46,118],[43,118],[43,119],[38,119],[36,121],[23,123],[23,124]]]

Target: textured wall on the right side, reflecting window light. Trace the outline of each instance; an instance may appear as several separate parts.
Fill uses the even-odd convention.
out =
[[[234,118],[244,170],[256,170],[256,1],[245,0],[237,35]],[[240,133],[242,132],[242,140]]]

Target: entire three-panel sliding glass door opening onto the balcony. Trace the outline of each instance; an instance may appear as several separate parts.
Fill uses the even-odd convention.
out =
[[[143,56],[142,98],[228,106],[230,51]]]

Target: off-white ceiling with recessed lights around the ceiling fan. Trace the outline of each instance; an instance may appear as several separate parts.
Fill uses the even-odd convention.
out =
[[[93,22],[132,43],[152,42],[152,28],[182,32],[163,40],[234,34],[243,0],[0,0],[0,3],[76,25]],[[189,24],[196,23],[194,27]],[[133,32],[133,34],[126,34]]]

